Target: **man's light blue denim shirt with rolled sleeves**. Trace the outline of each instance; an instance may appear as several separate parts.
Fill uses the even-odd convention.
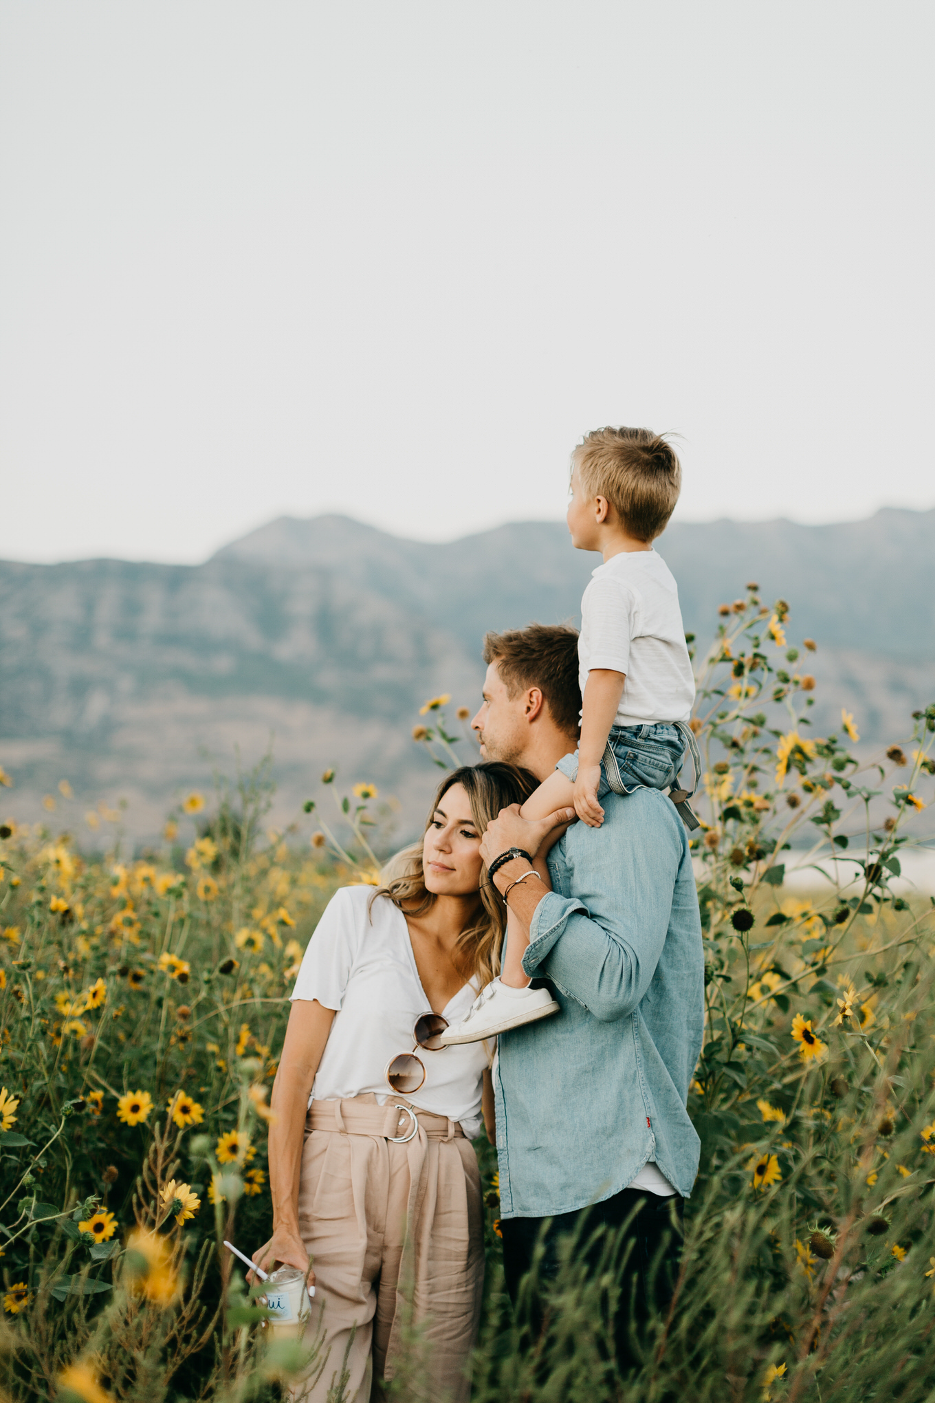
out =
[[[701,1052],[704,954],[688,839],[659,790],[601,797],[548,857],[523,967],[561,1013],[500,1034],[503,1218],[620,1193],[648,1160],[687,1198],[698,1172],[688,1083]]]

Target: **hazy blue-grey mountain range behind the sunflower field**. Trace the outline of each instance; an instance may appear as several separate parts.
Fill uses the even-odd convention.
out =
[[[784,595],[791,637],[820,644],[816,723],[847,704],[871,739],[935,696],[934,546],[935,512],[904,511],[676,523],[659,543],[702,640],[749,579]],[[125,796],[132,832],[153,833],[175,793],[272,737],[279,819],[336,762],[397,793],[407,826],[436,774],[409,741],[418,706],[472,706],[485,629],[576,620],[596,563],[562,523],[428,544],[341,516],[280,518],[198,567],[0,563],[6,810],[36,818],[67,779],[83,808]]]

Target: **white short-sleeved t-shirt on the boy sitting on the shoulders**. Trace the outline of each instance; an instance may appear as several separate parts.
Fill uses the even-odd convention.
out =
[[[655,550],[624,550],[592,571],[578,664],[582,693],[592,668],[625,673],[614,725],[688,720],[695,679],[678,586]]]

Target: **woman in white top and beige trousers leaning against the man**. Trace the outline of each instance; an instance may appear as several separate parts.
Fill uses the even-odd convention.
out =
[[[314,1263],[306,1338],[324,1338],[293,1395],[308,1403],[342,1371],[349,1403],[380,1396],[407,1301],[435,1396],[468,1397],[484,1284],[470,1141],[493,1099],[484,1044],[437,1037],[499,968],[506,909],[481,838],[535,784],[513,765],[454,770],[408,868],[338,891],[306,950],[272,1094],[273,1235],[254,1261]]]

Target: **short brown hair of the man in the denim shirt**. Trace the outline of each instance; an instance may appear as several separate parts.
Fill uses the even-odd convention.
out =
[[[559,731],[578,735],[582,692],[576,629],[566,623],[531,623],[507,633],[486,633],[484,661],[496,662],[510,697],[526,687],[538,687]]]

